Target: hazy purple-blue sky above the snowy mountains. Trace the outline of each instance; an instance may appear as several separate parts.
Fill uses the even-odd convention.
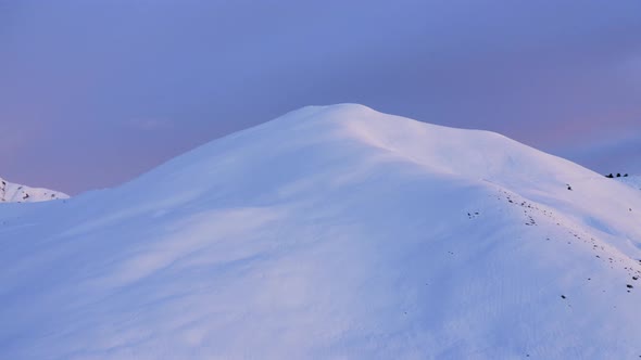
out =
[[[0,0],[10,181],[113,187],[340,102],[639,173],[641,1]]]

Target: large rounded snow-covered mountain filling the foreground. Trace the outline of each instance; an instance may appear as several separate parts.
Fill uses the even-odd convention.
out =
[[[0,207],[0,358],[636,359],[640,224],[497,133],[305,107]]]

